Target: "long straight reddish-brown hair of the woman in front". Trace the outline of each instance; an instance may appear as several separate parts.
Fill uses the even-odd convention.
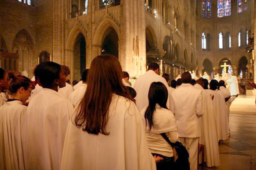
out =
[[[84,97],[77,107],[76,127],[98,135],[106,132],[108,109],[112,95],[117,94],[133,101],[128,89],[122,83],[122,68],[113,55],[100,55],[93,59],[87,79]]]

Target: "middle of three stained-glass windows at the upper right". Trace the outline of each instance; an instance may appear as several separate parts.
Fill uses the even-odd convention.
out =
[[[218,18],[231,15],[231,2],[230,0],[218,0]]]

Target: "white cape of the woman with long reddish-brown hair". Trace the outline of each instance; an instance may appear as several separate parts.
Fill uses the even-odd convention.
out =
[[[76,108],[74,109],[76,115]],[[113,95],[106,131],[92,135],[68,124],[62,170],[155,170],[138,108],[126,98]]]

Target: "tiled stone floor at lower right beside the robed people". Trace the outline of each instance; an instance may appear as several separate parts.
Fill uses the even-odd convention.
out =
[[[230,112],[230,139],[219,146],[220,166],[200,169],[256,170],[256,112]]]

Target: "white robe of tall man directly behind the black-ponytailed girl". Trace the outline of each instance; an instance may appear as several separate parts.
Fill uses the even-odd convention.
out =
[[[153,70],[148,70],[145,74],[140,76],[134,83],[134,90],[137,93],[137,96],[135,98],[136,105],[139,111],[141,111],[145,106],[148,106],[148,91],[152,82],[162,82],[168,90],[169,86],[166,80],[162,76],[157,75]],[[170,101],[170,96],[168,92],[168,100],[166,103],[168,108],[170,108],[169,101]]]

